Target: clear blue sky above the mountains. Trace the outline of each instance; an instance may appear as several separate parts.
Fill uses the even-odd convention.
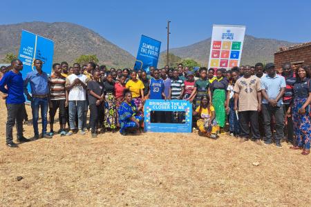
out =
[[[311,1],[306,0],[15,0],[6,1],[4,5],[0,24],[23,21],[77,23],[134,56],[141,34],[162,41],[162,50],[167,48],[168,19],[171,20],[170,48],[209,38],[213,24],[245,25],[246,33],[254,37],[311,41]]]

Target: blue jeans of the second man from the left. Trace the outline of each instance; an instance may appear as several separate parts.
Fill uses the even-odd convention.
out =
[[[38,119],[39,108],[41,108],[42,119],[42,135],[46,134],[46,127],[48,126],[48,98],[40,99],[32,97],[31,109],[32,109],[32,125],[35,132],[35,136],[39,135]]]

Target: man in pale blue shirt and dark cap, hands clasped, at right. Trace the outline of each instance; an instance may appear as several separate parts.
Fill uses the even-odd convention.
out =
[[[283,121],[284,121],[284,110],[283,110],[283,95],[285,93],[285,79],[281,75],[277,75],[274,63],[267,63],[265,66],[267,71],[266,75],[261,77],[261,93],[263,95],[262,110],[263,120],[265,122],[265,137],[264,144],[272,144],[272,131],[270,128],[271,118],[275,118],[275,145],[281,148],[281,139],[284,137],[283,133]]]

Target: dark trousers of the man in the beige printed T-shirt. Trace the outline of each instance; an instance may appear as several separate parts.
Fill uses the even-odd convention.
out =
[[[249,124],[252,130],[253,139],[261,139],[261,134],[259,132],[258,124],[258,111],[256,110],[246,110],[238,113],[241,124],[241,137],[249,137]]]

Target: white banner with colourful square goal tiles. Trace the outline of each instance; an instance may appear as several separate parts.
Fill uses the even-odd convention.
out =
[[[214,25],[209,51],[209,68],[240,66],[245,26]]]

